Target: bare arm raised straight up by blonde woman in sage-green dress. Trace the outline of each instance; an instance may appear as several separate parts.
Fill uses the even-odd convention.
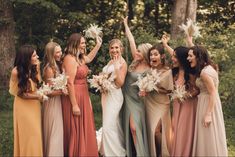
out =
[[[130,31],[127,20],[128,20],[128,16],[123,18],[123,23],[124,23],[127,39],[129,40],[129,43],[130,43],[131,54],[132,54],[133,59],[135,59],[135,54],[137,53],[137,48],[136,48],[134,36],[132,35],[132,33]]]

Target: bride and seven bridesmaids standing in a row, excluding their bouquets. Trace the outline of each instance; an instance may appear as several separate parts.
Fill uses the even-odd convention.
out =
[[[35,49],[21,46],[11,73],[9,92],[14,100],[14,156],[227,156],[218,72],[206,49],[194,46],[172,49],[168,37],[162,44],[135,44],[127,17],[123,19],[132,62],[122,57],[119,39],[109,42],[110,61],[103,72],[113,75],[115,89],[102,93],[102,142],[98,150],[92,104],[87,85],[87,64],[102,44],[100,37],[90,53],[85,38],[72,34],[64,56],[59,44],[49,42],[40,77]],[[166,62],[165,50],[172,66]],[[158,91],[140,91],[133,85],[140,75],[160,72]],[[66,90],[47,93],[44,101],[37,89],[43,79],[52,84],[62,72],[68,76]],[[169,94],[185,86],[184,101]],[[42,115],[41,105],[42,102]]]

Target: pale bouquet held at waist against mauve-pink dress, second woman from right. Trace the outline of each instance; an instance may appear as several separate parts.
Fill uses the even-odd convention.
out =
[[[183,102],[188,96],[187,91],[185,90],[185,85],[179,86],[176,85],[173,92],[170,94],[172,99],[179,99]]]

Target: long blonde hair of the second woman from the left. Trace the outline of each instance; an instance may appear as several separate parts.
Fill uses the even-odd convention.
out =
[[[55,56],[55,48],[60,46],[58,43],[50,41],[47,43],[45,47],[45,55],[44,55],[44,69],[43,71],[49,66],[52,68],[54,75],[56,72],[60,70],[60,65],[56,62],[54,56]]]

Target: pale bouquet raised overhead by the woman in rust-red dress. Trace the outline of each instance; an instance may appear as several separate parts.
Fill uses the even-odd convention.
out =
[[[95,39],[97,36],[102,36],[102,28],[91,24],[90,27],[85,30],[85,37]]]

